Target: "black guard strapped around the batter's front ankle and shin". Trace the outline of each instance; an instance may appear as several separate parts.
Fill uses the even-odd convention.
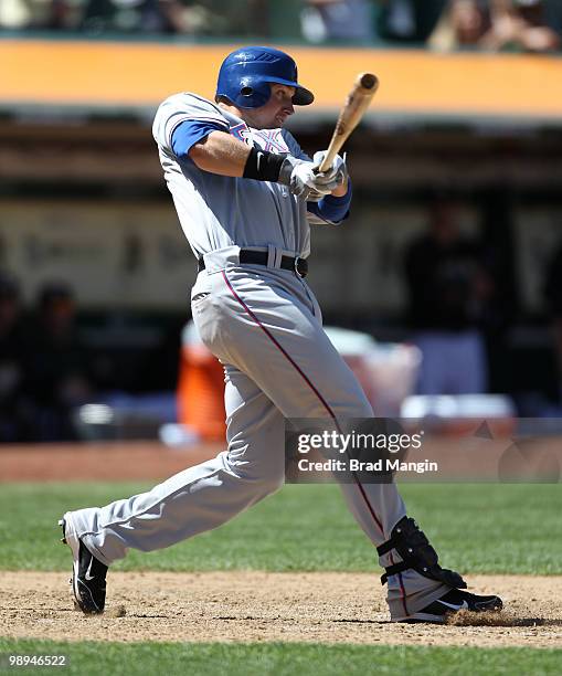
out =
[[[403,570],[412,568],[421,575],[437,580],[456,589],[466,589],[466,582],[453,570],[442,568],[435,549],[430,545],[423,530],[420,530],[414,519],[404,517],[392,529],[390,540],[377,548],[379,556],[395,549],[402,558],[400,563],[389,566],[381,577],[381,583],[385,584],[390,575],[395,575]]]

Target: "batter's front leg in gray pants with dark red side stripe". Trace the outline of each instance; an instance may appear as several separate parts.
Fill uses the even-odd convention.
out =
[[[223,350],[224,358],[244,369],[285,418],[322,418],[327,425],[346,418],[373,415],[353,373],[333,348],[315,316],[315,304],[296,281],[291,293],[283,283],[253,284],[229,271],[222,291],[214,284],[221,307],[229,316],[229,341],[213,345],[201,321],[203,340]],[[394,484],[342,485],[348,505],[373,545],[386,542],[404,517],[405,507]],[[392,549],[380,557],[383,567],[401,562]],[[393,617],[420,611],[449,589],[409,568],[389,578],[389,605]]]

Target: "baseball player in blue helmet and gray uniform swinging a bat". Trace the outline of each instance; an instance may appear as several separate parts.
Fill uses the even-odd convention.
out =
[[[73,591],[84,613],[100,613],[107,568],[132,547],[170,547],[221,524],[284,483],[284,419],[370,418],[354,376],[329,341],[305,281],[309,224],[339,225],[351,184],[337,157],[307,157],[284,129],[314,95],[294,60],[265,46],[224,60],[215,99],[191,93],[159,107],[153,136],[183,232],[198,261],[193,320],[224,367],[226,450],[148,493],[67,511]],[[466,591],[406,516],[394,484],[342,485],[359,526],[385,568],[395,622],[444,622],[462,608],[501,608]]]

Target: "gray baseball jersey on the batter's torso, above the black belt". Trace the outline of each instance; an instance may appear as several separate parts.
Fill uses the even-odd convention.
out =
[[[253,129],[195,94],[167,98],[156,114],[152,135],[181,228],[194,254],[200,257],[234,244],[273,245],[308,256],[309,222],[325,221],[307,213],[306,202],[294,198],[286,186],[201,171],[191,159],[177,158],[171,149],[172,134],[185,120],[215,123],[250,146],[309,158],[286,129]]]

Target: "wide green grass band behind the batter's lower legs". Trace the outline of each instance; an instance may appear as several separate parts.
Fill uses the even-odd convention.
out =
[[[0,569],[65,570],[59,517],[147,489],[139,484],[3,484]],[[562,573],[562,486],[405,485],[409,511],[460,572]],[[215,531],[166,550],[131,551],[117,570],[378,570],[337,486],[290,485]]]

